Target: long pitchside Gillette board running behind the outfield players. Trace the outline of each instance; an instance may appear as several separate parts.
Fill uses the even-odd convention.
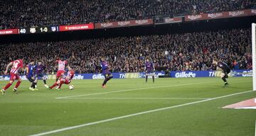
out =
[[[156,78],[159,76],[164,76],[165,72],[154,72],[153,73]],[[134,73],[112,73],[114,79],[136,79],[136,78],[144,78],[145,73],[144,72],[134,72]],[[48,74],[45,75],[46,79],[56,79],[55,74]],[[149,78],[151,78],[151,75],[149,75]],[[0,76],[0,81],[8,81],[10,79],[10,76]],[[26,76],[21,76],[21,79],[26,79]],[[75,74],[73,77],[74,80],[76,79],[105,79],[103,74]]]

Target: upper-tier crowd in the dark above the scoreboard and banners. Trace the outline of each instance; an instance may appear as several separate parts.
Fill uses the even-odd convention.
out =
[[[126,21],[255,8],[254,0],[4,0],[0,29]]]

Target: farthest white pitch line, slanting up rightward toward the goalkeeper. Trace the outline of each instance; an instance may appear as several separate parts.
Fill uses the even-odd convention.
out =
[[[212,83],[212,82],[213,82],[213,81],[206,81],[206,82],[201,82],[201,83],[196,83],[196,84],[206,84],[206,83]],[[112,94],[112,93],[119,93],[119,92],[124,92],[124,91],[135,91],[135,90],[144,90],[144,89],[158,89],[158,88],[174,87],[174,86],[188,86],[188,85],[194,85],[194,84],[195,84],[195,83],[191,83],[191,84],[176,84],[176,85],[171,85],[171,86],[144,87],[144,88],[139,88],[139,89],[125,89],[125,90],[119,90],[119,91],[107,91],[107,92],[94,93],[94,94],[82,94],[82,95],[78,95],[78,96],[57,97],[57,99],[60,99],[60,98],[80,97],[80,96],[93,96],[93,95],[98,95],[98,94]]]

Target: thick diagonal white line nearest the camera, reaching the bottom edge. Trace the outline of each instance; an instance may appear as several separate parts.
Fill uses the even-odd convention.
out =
[[[235,96],[235,95],[238,95],[238,94],[245,94],[245,93],[249,93],[249,92],[252,92],[252,90],[251,91],[242,91],[240,93],[235,93],[235,94],[228,94],[228,95],[225,95],[225,96],[219,96],[219,97],[215,97],[215,98],[209,98],[209,99],[206,99],[206,100],[195,101],[195,102],[191,102],[191,103],[183,103],[183,104],[176,105],[176,106],[169,106],[169,107],[165,107],[165,108],[156,108],[154,110],[142,111],[140,113],[122,115],[122,116],[119,116],[119,117],[116,117],[116,118],[109,118],[109,119],[106,119],[106,120],[95,121],[95,122],[92,122],[92,123],[85,123],[85,124],[82,124],[82,125],[74,125],[72,127],[60,128],[58,130],[52,130],[52,131],[48,131],[48,132],[41,132],[41,133],[38,133],[38,134],[35,134],[35,135],[30,135],[30,136],[41,136],[41,135],[53,134],[53,133],[56,133],[56,132],[62,132],[62,131],[66,131],[66,130],[73,130],[75,128],[82,128],[82,127],[85,127],[85,126],[88,126],[88,125],[106,123],[106,122],[109,122],[109,121],[112,121],[112,120],[119,120],[119,119],[122,119],[122,118],[129,118],[129,117],[133,117],[133,116],[136,116],[136,115],[142,115],[142,114],[146,114],[146,113],[154,113],[156,111],[164,111],[164,110],[168,110],[168,109],[171,109],[171,108],[178,108],[178,107],[188,106],[188,105],[192,105],[192,104],[196,104],[196,103],[203,103],[203,102],[212,101],[212,100],[215,100],[215,99],[218,99],[218,98],[225,98],[225,97],[228,97],[228,96]]]

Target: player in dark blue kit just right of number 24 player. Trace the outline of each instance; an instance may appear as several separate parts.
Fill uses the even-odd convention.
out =
[[[31,87],[29,87],[29,90],[31,91],[37,90],[35,88],[36,82],[35,82],[35,79],[33,78],[33,69],[34,69],[34,61],[31,60],[31,62],[29,62],[29,64],[26,67],[26,78],[28,79],[28,81],[31,82]]]

